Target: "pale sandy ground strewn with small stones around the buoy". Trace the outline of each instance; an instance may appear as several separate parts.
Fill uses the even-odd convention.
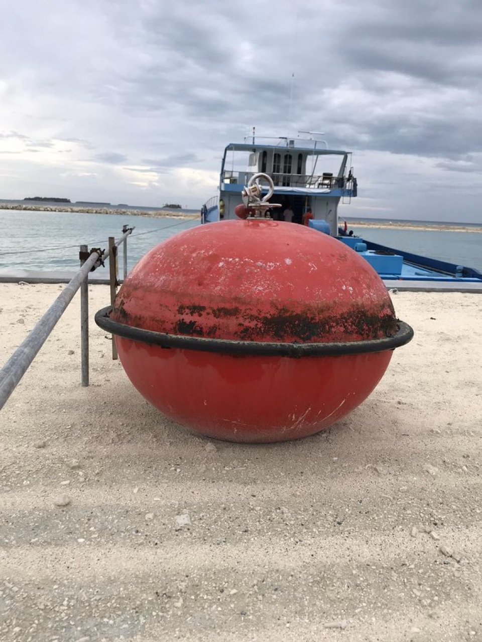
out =
[[[1,363],[62,287],[0,284]],[[93,321],[81,388],[76,295],[0,413],[0,639],[482,641],[482,297],[393,302],[415,338],[357,410],[239,446],[152,408]]]

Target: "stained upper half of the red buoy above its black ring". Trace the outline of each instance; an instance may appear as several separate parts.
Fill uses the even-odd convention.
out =
[[[202,225],[157,245],[119,291],[111,319],[172,335],[336,343],[398,332],[367,261],[303,225],[248,219]]]

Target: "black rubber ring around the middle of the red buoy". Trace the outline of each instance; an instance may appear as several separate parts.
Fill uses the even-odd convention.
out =
[[[405,345],[413,338],[413,329],[403,321],[397,320],[398,331],[394,336],[383,339],[364,341],[347,341],[343,343],[267,343],[254,341],[235,341],[231,339],[206,339],[199,336],[167,334],[144,330],[130,325],[112,321],[112,306],[100,309],[95,315],[95,322],[103,330],[117,334],[125,339],[132,339],[149,345],[160,345],[163,348],[180,348],[218,354],[242,354],[256,356],[341,356],[343,354],[363,354],[365,352],[383,352],[394,350]]]

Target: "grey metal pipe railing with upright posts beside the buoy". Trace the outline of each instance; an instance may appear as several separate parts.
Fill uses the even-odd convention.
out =
[[[0,370],[0,410],[17,387],[31,362],[37,356],[40,348],[48,339],[58,320],[69,306],[76,291],[80,288],[80,336],[81,336],[81,384],[89,385],[89,272],[109,258],[111,303],[116,295],[117,281],[117,249],[123,243],[124,247],[124,278],[127,275],[127,237],[134,227],[124,226],[123,234],[118,241],[109,238],[109,249],[92,248],[89,252],[86,245],[80,246],[81,267],[66,288],[60,293],[44,316],[35,325],[10,359]],[[98,265],[97,265],[98,264]],[[114,356],[115,355],[115,356]],[[112,358],[117,358],[115,343],[112,338]]]

